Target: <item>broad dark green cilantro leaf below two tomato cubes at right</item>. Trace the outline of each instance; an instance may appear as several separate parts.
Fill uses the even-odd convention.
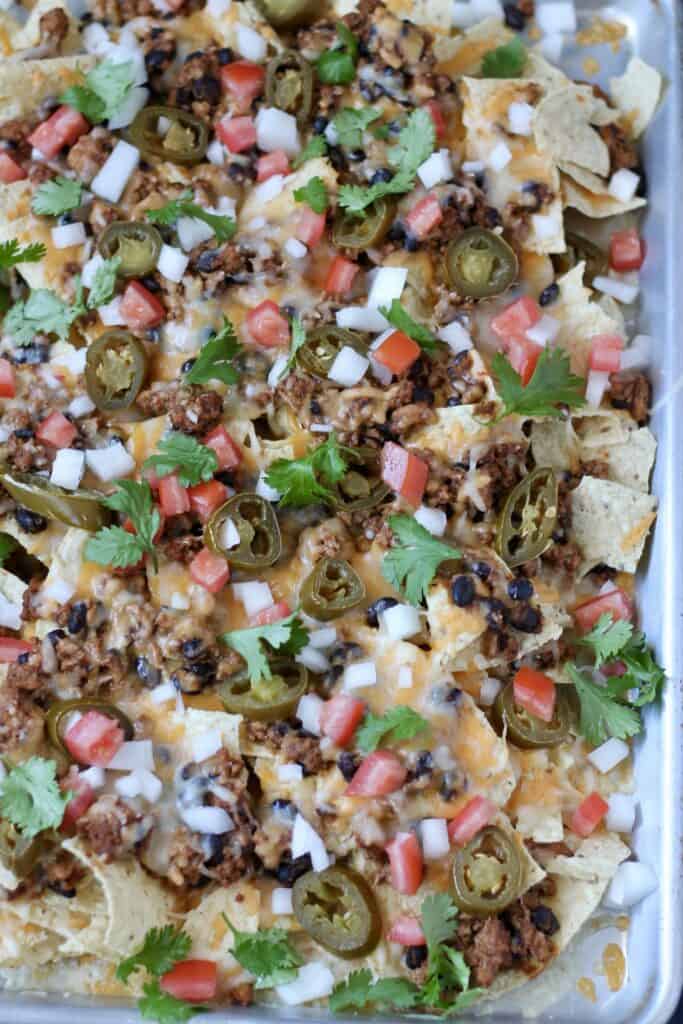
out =
[[[561,406],[581,409],[586,404],[586,381],[571,373],[569,356],[561,348],[544,348],[526,386],[501,352],[492,359],[492,370],[503,400],[503,412],[495,422],[512,413],[559,417],[562,416]]]

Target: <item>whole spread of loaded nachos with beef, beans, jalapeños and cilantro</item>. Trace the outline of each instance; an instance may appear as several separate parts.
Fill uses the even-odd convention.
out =
[[[651,889],[659,75],[564,2],[75,7],[0,14],[3,984],[478,1005]]]

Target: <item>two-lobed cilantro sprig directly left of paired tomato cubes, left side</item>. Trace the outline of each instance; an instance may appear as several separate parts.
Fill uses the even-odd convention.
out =
[[[145,554],[150,554],[156,568],[154,539],[161,519],[152,501],[150,484],[119,480],[117,489],[103,498],[102,503],[130,519],[135,532],[129,534],[123,526],[103,526],[85,545],[88,561],[123,569],[136,565]]]

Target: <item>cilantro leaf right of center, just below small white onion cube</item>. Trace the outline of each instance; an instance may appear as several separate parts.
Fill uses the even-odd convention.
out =
[[[388,522],[398,544],[382,559],[382,575],[411,604],[420,605],[441,562],[460,558],[460,551],[432,537],[413,516],[392,515]]]

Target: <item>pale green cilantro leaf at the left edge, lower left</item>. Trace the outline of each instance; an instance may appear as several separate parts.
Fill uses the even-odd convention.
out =
[[[27,839],[61,824],[71,794],[59,788],[56,768],[54,761],[33,757],[0,781],[0,814]]]

